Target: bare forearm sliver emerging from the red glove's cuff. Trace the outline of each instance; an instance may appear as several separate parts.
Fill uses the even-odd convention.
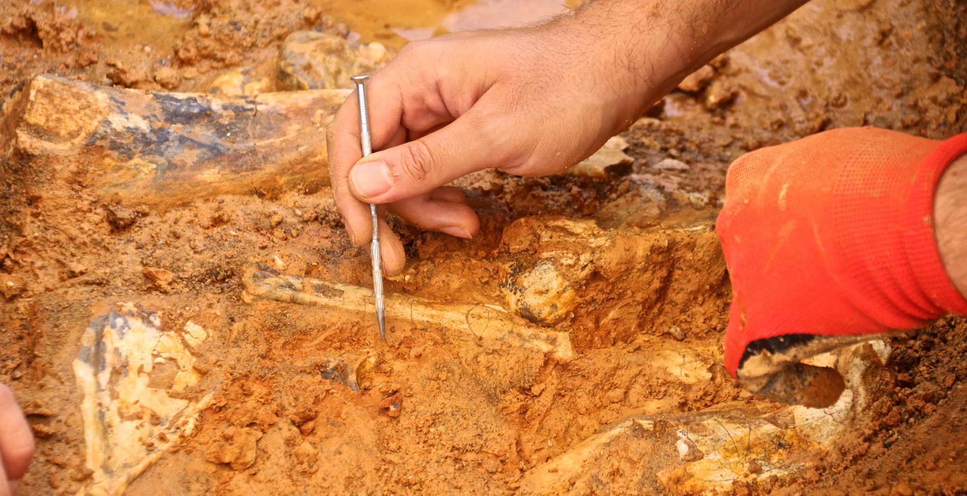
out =
[[[954,161],[940,178],[933,216],[944,268],[967,297],[967,155]]]

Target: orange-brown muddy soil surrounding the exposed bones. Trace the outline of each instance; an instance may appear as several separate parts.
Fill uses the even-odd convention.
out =
[[[426,2],[435,6],[425,11],[430,16],[459,7]],[[138,12],[150,11],[146,5]],[[297,29],[400,43],[379,27],[384,19],[340,16],[321,1],[180,0],[169,8],[191,13],[183,22],[166,20],[161,34],[145,34],[124,18],[98,22],[83,9],[73,18],[51,1],[6,2],[0,91],[6,95],[30,73],[176,91],[204,91],[239,67],[274,77],[278,44]],[[424,25],[423,11],[401,10],[399,26]],[[612,181],[498,173],[464,180],[483,224],[472,241],[396,221],[411,262],[388,289],[500,305],[500,241],[514,219],[674,225],[713,216],[728,163],[749,150],[843,126],[936,138],[967,131],[965,10],[942,0],[817,0],[719,59],[704,90],[673,93],[657,118],[635,124],[625,133],[634,164]],[[689,169],[653,167],[665,158]],[[0,179],[3,190],[15,181]],[[132,495],[507,494],[528,469],[646,405],[660,413],[756,401],[718,364],[710,381],[669,385],[635,353],[667,340],[719,346],[727,288],[696,300],[691,310],[701,319],[678,331],[647,328],[627,341],[581,346],[568,365],[433,329],[391,327],[384,344],[370,315],[241,301],[241,277],[252,262],[368,285],[366,253],[346,241],[328,190],[141,209],[129,225],[75,186],[73,210],[41,212],[50,222],[43,232],[0,222],[0,275],[18,288],[0,301],[0,380],[38,437],[21,494],[74,494],[90,477],[71,362],[89,321],[122,302],[161,311],[164,326],[180,329],[191,320],[213,333],[199,350],[207,373],[194,393],[214,391],[214,404],[190,438],[132,483]],[[145,268],[169,271],[173,280],[160,285]],[[895,338],[894,346],[872,413],[828,459],[736,493],[967,492],[967,326],[947,319]],[[363,349],[373,350],[376,364],[361,393],[320,378],[319,357]],[[401,398],[398,417],[384,402],[392,394]],[[229,427],[234,437],[225,435]],[[212,461],[213,452],[252,436],[260,438],[250,467]],[[627,487],[616,474],[615,486]]]

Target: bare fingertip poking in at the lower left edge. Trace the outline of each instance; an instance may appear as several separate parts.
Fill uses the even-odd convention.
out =
[[[16,405],[14,394],[0,384],[0,496],[15,493],[33,457],[30,425]]]

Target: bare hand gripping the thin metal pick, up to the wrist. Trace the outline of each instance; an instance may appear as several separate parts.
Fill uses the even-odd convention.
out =
[[[619,44],[575,17],[404,46],[366,83],[372,145],[381,151],[359,163],[355,94],[343,103],[327,132],[330,177],[356,245],[369,242],[366,203],[385,204],[420,228],[470,238],[479,229],[476,215],[459,190],[443,185],[485,168],[522,176],[563,170],[688,73],[681,62],[653,58],[668,75],[642,77],[639,55],[626,53],[637,44]],[[405,257],[381,223],[384,271],[392,276]]]

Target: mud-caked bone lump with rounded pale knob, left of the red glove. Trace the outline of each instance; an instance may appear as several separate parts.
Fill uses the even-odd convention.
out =
[[[720,323],[715,304],[728,278],[711,219],[603,229],[590,219],[528,217],[504,230],[502,246],[508,307],[538,325],[570,323],[577,346]]]

